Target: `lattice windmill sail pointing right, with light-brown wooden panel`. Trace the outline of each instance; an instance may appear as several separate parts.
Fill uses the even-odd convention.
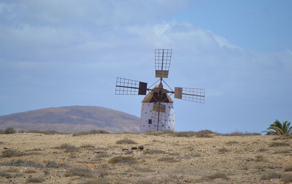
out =
[[[196,88],[175,87],[174,97],[182,100],[205,103],[205,90]]]

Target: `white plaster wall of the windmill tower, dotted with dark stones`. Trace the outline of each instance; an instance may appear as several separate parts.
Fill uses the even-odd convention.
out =
[[[148,120],[152,117],[152,109],[154,103],[143,102],[141,107],[141,117],[140,117],[140,133],[143,133],[145,130],[150,129]],[[165,129],[170,129],[176,131],[176,124],[174,118],[173,103],[165,103]]]

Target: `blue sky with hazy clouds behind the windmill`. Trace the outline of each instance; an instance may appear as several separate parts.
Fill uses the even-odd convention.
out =
[[[140,117],[155,49],[172,49],[176,131],[261,132],[292,121],[292,1],[0,1],[0,115],[90,105]],[[157,83],[158,84],[158,83]],[[164,85],[166,87],[166,85]],[[167,88],[168,89],[168,88]]]

